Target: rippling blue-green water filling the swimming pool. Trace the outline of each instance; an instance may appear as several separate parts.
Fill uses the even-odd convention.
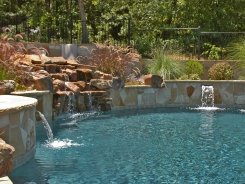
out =
[[[244,183],[244,117],[240,110],[176,108],[73,115],[59,120],[53,147],[38,138],[35,158],[10,178],[15,184]]]

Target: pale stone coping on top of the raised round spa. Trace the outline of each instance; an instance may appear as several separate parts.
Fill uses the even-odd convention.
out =
[[[0,115],[37,105],[37,99],[15,95],[0,95]]]

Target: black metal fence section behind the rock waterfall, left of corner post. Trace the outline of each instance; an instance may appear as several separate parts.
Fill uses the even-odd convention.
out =
[[[108,43],[113,45],[130,45],[130,19],[97,20],[87,23],[90,42]],[[3,27],[0,22],[0,28]],[[13,34],[24,33],[28,42],[43,43],[81,43],[81,22],[56,22],[55,26],[29,27],[27,22],[8,26]]]

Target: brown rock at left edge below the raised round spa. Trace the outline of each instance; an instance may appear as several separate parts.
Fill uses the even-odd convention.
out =
[[[0,177],[9,174],[12,170],[14,151],[13,146],[6,144],[6,142],[0,138]]]

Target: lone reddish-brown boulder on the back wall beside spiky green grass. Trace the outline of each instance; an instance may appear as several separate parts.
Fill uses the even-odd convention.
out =
[[[161,88],[165,86],[165,83],[163,82],[163,79],[159,75],[145,75],[143,76],[143,80],[145,85],[150,85],[153,88]]]

